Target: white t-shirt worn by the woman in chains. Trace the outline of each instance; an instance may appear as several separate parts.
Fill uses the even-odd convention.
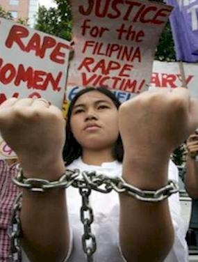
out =
[[[109,177],[122,175],[122,164],[117,161],[103,163],[101,166],[93,166],[83,163],[81,158],[79,158],[74,160],[72,164],[69,164],[67,168],[80,169],[80,171],[97,171],[97,174],[105,174]],[[169,164],[168,178],[176,181],[179,180],[178,170],[172,161]],[[65,261],[84,262],[86,259],[81,244],[81,236],[83,234],[83,224],[80,219],[81,196],[79,190],[74,187],[67,188],[66,194],[72,239],[69,258]],[[169,204],[175,237],[172,250],[164,262],[187,262],[188,247],[185,242],[187,226],[180,215],[179,194],[170,196]],[[91,229],[97,240],[97,251],[94,253],[94,262],[124,262],[124,258],[119,251],[118,194],[114,191],[108,194],[92,191],[90,205],[94,212],[94,222],[91,224]],[[142,238],[144,238],[144,235],[142,235]],[[145,254],[146,257],[147,254]],[[28,262],[28,260],[24,258],[23,262]]]

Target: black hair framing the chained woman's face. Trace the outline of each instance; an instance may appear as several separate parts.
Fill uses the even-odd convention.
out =
[[[66,130],[66,140],[65,140],[65,146],[63,148],[63,159],[67,165],[71,164],[74,160],[76,160],[78,157],[82,155],[82,147],[79,144],[79,142],[76,141],[74,134],[72,133],[71,125],[70,125],[72,111],[76,103],[76,100],[78,100],[78,98],[81,95],[91,92],[91,91],[99,91],[100,93],[103,93],[104,95],[108,96],[108,98],[110,98],[110,100],[113,101],[113,104],[115,105],[117,109],[121,105],[121,103],[115,97],[115,95],[110,90],[104,87],[87,87],[87,88],[83,88],[81,91],[76,93],[76,95],[70,102],[69,109],[67,112],[67,124],[66,124],[66,129],[65,129]],[[124,155],[124,150],[123,150],[123,145],[122,145],[122,139],[119,134],[119,136],[117,137],[117,141],[115,142],[115,146],[113,148],[113,156],[115,157],[117,161],[122,162],[123,155]]]

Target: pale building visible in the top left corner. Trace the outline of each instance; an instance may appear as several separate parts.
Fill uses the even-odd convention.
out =
[[[35,24],[35,15],[38,11],[38,0],[0,0],[0,6],[10,11],[15,20],[28,18],[29,26]]]

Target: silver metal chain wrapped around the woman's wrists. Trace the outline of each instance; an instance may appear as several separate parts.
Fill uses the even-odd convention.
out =
[[[166,199],[171,194],[179,191],[179,187],[173,180],[170,180],[165,187],[156,191],[140,190],[137,187],[127,184],[123,178],[109,178],[103,174],[96,172],[83,171],[82,176],[79,169],[66,169],[65,174],[58,181],[49,182],[48,180],[38,178],[24,178],[22,169],[18,169],[18,174],[13,178],[13,182],[20,187],[25,187],[32,192],[44,192],[50,188],[67,188],[69,186],[79,188],[82,196],[82,206],[80,210],[81,222],[83,223],[84,233],[82,236],[83,252],[87,256],[88,262],[93,262],[93,254],[97,250],[97,242],[91,231],[91,224],[94,222],[93,210],[90,206],[89,196],[92,190],[108,194],[112,190],[117,193],[129,194],[135,199],[141,201],[158,202]],[[14,205],[12,226],[10,228],[11,236],[11,261],[21,262],[22,255],[20,249],[19,236],[21,225],[19,220],[19,212],[22,207],[22,194],[17,196]]]

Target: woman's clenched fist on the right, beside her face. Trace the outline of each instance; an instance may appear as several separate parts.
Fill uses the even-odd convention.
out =
[[[167,160],[198,126],[198,101],[188,90],[145,92],[122,104],[119,128],[126,154]]]

